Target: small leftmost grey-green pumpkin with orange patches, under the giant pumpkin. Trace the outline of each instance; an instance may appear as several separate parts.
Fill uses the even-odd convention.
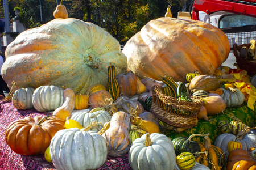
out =
[[[26,110],[32,109],[32,96],[33,92],[35,91],[34,88],[27,87],[27,88],[19,88],[15,90],[11,102],[16,109]]]

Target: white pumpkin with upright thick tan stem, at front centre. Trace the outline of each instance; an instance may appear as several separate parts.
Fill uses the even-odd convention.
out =
[[[129,163],[137,169],[170,169],[176,164],[174,145],[164,134],[144,134],[133,141],[129,150]]]

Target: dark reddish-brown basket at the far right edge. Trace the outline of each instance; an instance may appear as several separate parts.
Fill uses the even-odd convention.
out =
[[[237,53],[237,50],[238,52],[240,52],[243,46],[250,48],[251,44],[250,43],[242,44],[242,45],[233,44],[233,53],[234,53],[234,56],[236,57],[236,62],[238,67],[242,70],[247,71],[247,74],[249,76],[253,76],[254,74],[256,74],[256,61],[249,61],[249,60],[243,59]]]

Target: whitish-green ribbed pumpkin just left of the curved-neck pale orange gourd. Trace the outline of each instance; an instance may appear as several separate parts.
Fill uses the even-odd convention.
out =
[[[64,102],[64,89],[57,86],[40,86],[35,89],[32,96],[32,104],[36,111],[53,111]]]

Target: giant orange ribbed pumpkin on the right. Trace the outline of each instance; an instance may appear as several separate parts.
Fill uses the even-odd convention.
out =
[[[230,52],[228,38],[220,29],[197,20],[151,20],[125,44],[128,67],[140,77],[160,80],[170,75],[186,82],[187,73],[198,70],[213,75]]]

